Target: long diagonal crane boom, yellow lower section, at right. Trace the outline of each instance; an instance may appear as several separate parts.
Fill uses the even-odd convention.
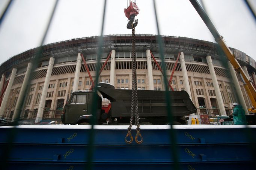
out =
[[[203,22],[205,22],[205,25],[208,27],[209,31],[212,33],[212,36],[214,36],[215,41],[220,45],[221,49],[227,56],[227,59],[230,61],[236,72],[240,73],[242,76],[242,79],[244,81],[244,88],[248,94],[248,96],[251,99],[251,102],[253,104],[252,109],[248,109],[249,111],[252,111],[253,113],[256,113],[256,90],[253,87],[253,85],[250,83],[249,78],[245,75],[244,70],[242,70],[240,64],[236,60],[235,56],[230,51],[229,47],[226,45],[226,43],[223,40],[223,36],[220,36],[217,29],[211,22],[211,19],[207,15],[207,13],[203,10],[203,8],[200,6],[200,4],[197,2],[197,0],[190,0],[190,3],[194,6],[194,9],[196,9],[197,13],[200,15],[200,17],[203,19]]]

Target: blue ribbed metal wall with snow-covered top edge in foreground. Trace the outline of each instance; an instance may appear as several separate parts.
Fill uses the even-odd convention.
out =
[[[94,126],[95,169],[172,169],[169,125],[142,125],[143,143],[125,143],[128,126]],[[256,126],[173,125],[181,169],[254,169]],[[7,169],[84,169],[90,125],[0,127],[0,153],[14,132]],[[135,127],[132,130],[136,134]]]

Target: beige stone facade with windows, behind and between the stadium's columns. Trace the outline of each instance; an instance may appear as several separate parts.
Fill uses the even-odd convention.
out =
[[[198,40],[199,41],[199,40]],[[106,56],[113,51],[113,49],[105,50],[102,54],[100,60],[100,66],[104,64]],[[156,50],[155,50],[156,51]],[[182,51],[182,49],[179,49]],[[114,68],[114,86],[117,89],[131,89],[132,87],[132,70],[131,70],[131,52],[129,50],[123,49],[123,51],[115,52],[114,64],[111,63],[111,60],[108,60],[105,65],[101,75],[99,77],[99,82],[111,82],[111,64],[115,66]],[[157,52],[152,51],[154,56],[156,56],[157,62],[161,65],[161,60]],[[184,52],[185,56],[185,65],[186,72],[188,75],[188,83],[190,85],[192,101],[197,108],[197,114],[208,113],[210,116],[214,115],[230,115],[232,113],[232,103],[237,102],[238,98],[236,97],[236,89],[234,89],[232,79],[228,76],[227,67],[221,66],[218,64],[218,58],[214,58],[213,66],[215,70],[215,75],[217,77],[218,87],[220,89],[221,97],[223,103],[218,103],[215,87],[212,82],[211,74],[209,73],[208,64],[205,62],[206,53],[194,55],[188,53],[186,50]],[[43,119],[50,118],[60,118],[64,104],[68,94],[73,91],[73,85],[75,80],[75,68],[77,66],[77,57],[78,52],[73,52],[73,55],[68,55],[68,57],[63,55],[55,54],[53,70],[50,76],[50,82],[47,85],[47,94],[45,98],[45,108]],[[96,69],[96,53],[95,51],[92,54],[84,54],[86,63],[89,67],[90,74],[92,75],[93,80],[95,80],[95,69]],[[130,56],[129,56],[130,55]],[[166,73],[167,80],[169,81],[170,75],[172,73],[173,66],[175,64],[177,53],[176,52],[166,52],[165,56],[169,56],[169,59],[165,58],[166,62]],[[113,56],[112,56],[113,57]],[[200,57],[200,58],[199,58]],[[193,61],[191,60],[194,59]],[[199,58],[199,59],[198,59]],[[26,91],[26,96],[23,100],[23,108],[21,112],[21,119],[35,119],[37,116],[37,111],[40,104],[40,99],[42,97],[42,90],[45,82],[45,76],[48,69],[49,59],[41,61],[41,66],[33,70],[33,79],[29,82],[29,87]],[[112,61],[112,62],[113,62]],[[175,91],[185,90],[184,78],[178,61],[177,68],[174,72],[173,79],[171,80],[171,85]],[[217,64],[216,64],[217,63]],[[153,84],[154,90],[164,90],[164,77],[158,67],[156,66],[153,59],[151,59],[151,66],[147,64],[146,58],[146,49],[137,53],[137,88],[138,90],[148,90],[150,83]],[[148,67],[152,67],[153,82],[149,82]],[[80,68],[80,74],[78,78],[78,90],[89,90],[92,83],[90,81],[89,75],[86,72],[85,66],[82,62]],[[113,68],[112,68],[113,69]],[[2,114],[2,117],[6,119],[12,119],[14,114],[16,102],[19,96],[19,91],[23,83],[24,76],[26,74],[26,64],[22,68],[18,69],[17,74],[15,75],[14,83],[11,85],[11,92],[8,94],[8,101],[5,106],[5,111]],[[5,85],[8,81],[6,78]],[[242,90],[242,94],[245,98],[247,107],[251,107],[251,101],[248,98],[248,95],[245,92],[241,78],[239,78],[239,84]],[[103,104],[107,103],[107,100],[102,99]],[[222,104],[225,107],[226,113],[220,113],[218,109],[218,104]]]

